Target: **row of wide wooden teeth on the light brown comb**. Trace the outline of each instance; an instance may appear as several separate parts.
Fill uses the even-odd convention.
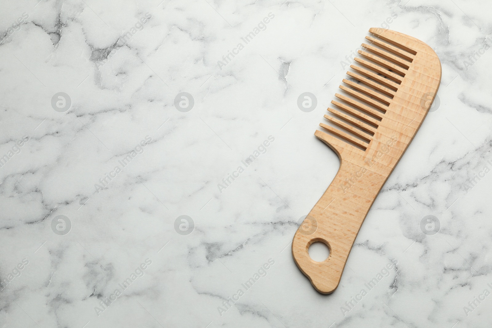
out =
[[[365,59],[354,59],[365,68],[350,65],[360,74],[348,71],[347,75],[352,79],[343,79],[344,85],[339,86],[348,96],[335,94],[346,104],[333,100],[332,103],[341,111],[328,108],[333,116],[325,115],[325,118],[337,127],[320,124],[329,134],[324,133],[324,139],[320,135],[318,137],[330,144],[326,136],[331,136],[330,138],[334,138],[332,141],[338,140],[338,148],[346,147],[346,145],[340,145],[340,141],[346,141],[348,145],[355,145],[364,150],[369,147],[371,139],[377,133],[380,121],[384,119],[400,84],[415,59],[416,52],[397,40],[391,40],[391,34],[381,38],[378,33],[387,33],[380,29],[369,31],[376,38],[366,37],[370,44],[363,43],[362,47],[366,51],[358,51]]]

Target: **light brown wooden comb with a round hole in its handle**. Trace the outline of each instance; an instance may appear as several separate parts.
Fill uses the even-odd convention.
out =
[[[328,133],[316,137],[330,146],[340,168],[314,205],[292,241],[297,266],[314,288],[332,293],[340,282],[350,249],[374,199],[426,117],[441,81],[441,63],[426,43],[396,32],[369,29],[361,58],[351,65],[352,78],[343,80],[332,101],[334,126],[320,123]],[[361,48],[361,49],[362,49]],[[341,128],[341,129],[340,129]],[[313,261],[315,241],[326,243],[329,257]]]

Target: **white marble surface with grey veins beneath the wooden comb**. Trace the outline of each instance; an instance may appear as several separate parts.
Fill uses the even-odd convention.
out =
[[[464,63],[492,33],[489,1],[159,2],[0,2],[0,327],[491,326],[492,51]],[[370,210],[340,286],[320,295],[289,245],[338,169],[313,132],[340,62],[388,18],[439,55],[440,105]],[[58,92],[66,112],[52,107]],[[174,106],[180,92],[189,112]],[[302,92],[314,111],[297,107]],[[68,234],[52,230],[58,215]],[[189,235],[175,230],[181,215]],[[440,222],[433,236],[427,215]]]

